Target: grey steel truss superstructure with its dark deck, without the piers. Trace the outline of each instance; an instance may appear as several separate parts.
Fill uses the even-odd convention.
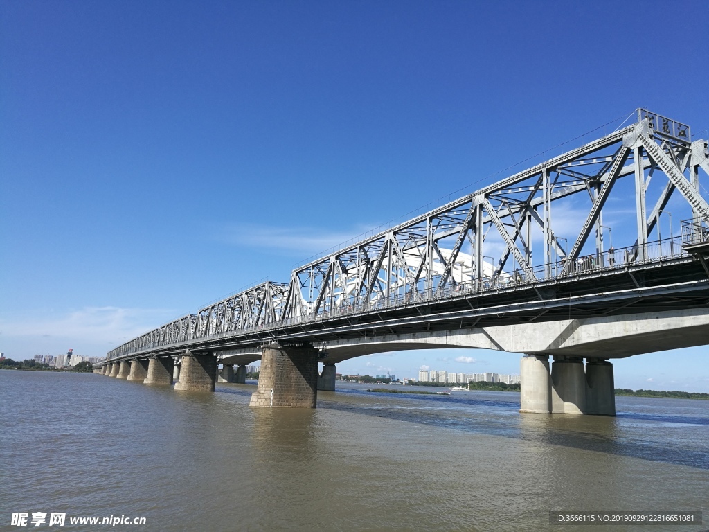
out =
[[[298,267],[289,282],[182,316],[106,358],[246,353],[278,340],[313,343],[325,360],[328,343],[373,335],[706,310],[700,169],[709,174],[707,140],[639,109],[630,126]],[[662,238],[671,199],[682,233]],[[618,211],[632,214],[611,234],[603,216]],[[613,236],[627,241],[613,247]]]

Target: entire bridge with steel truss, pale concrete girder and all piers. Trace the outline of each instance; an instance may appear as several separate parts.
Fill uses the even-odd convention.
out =
[[[638,109],[629,126],[344,245],[288,282],[134,338],[94,371],[213,391],[261,359],[252,406],[312,408],[349,358],[492,349],[523,355],[520,411],[614,415],[611,360],[709,343],[700,170],[707,140]]]

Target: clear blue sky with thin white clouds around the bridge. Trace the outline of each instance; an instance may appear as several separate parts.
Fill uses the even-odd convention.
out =
[[[0,0],[0,350],[104,355],[639,106],[705,130],[707,15],[699,0]],[[709,392],[707,351],[620,360],[616,384]],[[421,365],[517,373],[519,355],[338,371]]]

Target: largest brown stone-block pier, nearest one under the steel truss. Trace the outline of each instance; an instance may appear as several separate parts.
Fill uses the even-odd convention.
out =
[[[308,343],[264,345],[259,384],[249,406],[314,409],[317,401],[318,350]]]

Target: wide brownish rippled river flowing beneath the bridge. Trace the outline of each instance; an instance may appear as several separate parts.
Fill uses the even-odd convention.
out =
[[[703,525],[649,529],[709,529],[708,401],[618,397],[615,418],[521,415],[513,392],[337,385],[315,410],[252,409],[253,384],[190,394],[0,370],[0,530],[646,529],[551,525],[552,510],[703,511]],[[67,521],[11,526],[18,512]],[[145,524],[69,523],[80,516]]]

